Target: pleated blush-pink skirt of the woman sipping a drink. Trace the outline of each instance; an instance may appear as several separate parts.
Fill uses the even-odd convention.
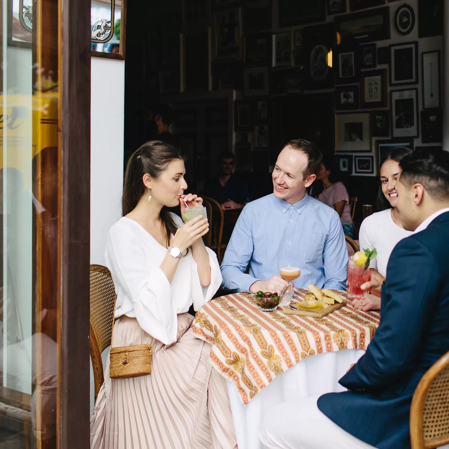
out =
[[[178,315],[177,341],[153,342],[151,374],[105,382],[90,422],[91,449],[233,449],[226,380],[208,361],[210,345],[194,337],[188,313]],[[120,317],[113,346],[151,344],[135,318]]]

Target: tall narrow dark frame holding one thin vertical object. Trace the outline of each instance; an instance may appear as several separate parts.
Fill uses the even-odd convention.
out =
[[[440,51],[423,52],[421,67],[423,70],[423,109],[440,107]]]

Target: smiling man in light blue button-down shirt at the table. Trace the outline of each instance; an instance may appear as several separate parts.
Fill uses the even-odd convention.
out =
[[[321,159],[311,142],[284,145],[273,170],[273,194],[248,203],[235,225],[220,268],[223,288],[282,293],[287,281],[279,269],[291,266],[301,269],[296,287],[346,290],[348,250],[339,215],[306,192]]]

